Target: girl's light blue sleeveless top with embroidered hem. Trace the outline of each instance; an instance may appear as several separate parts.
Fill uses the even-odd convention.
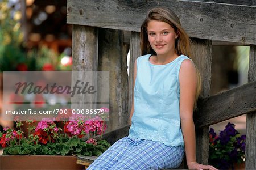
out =
[[[137,58],[134,113],[129,137],[184,146],[180,128],[179,70],[187,56],[165,65],[150,63],[151,54]]]

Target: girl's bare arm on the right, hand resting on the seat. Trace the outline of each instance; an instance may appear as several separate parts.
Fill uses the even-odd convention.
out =
[[[196,137],[193,122],[193,107],[195,102],[197,75],[193,62],[185,59],[179,72],[180,82],[180,119],[183,133],[185,154],[189,169],[216,169],[212,166],[196,162]]]

